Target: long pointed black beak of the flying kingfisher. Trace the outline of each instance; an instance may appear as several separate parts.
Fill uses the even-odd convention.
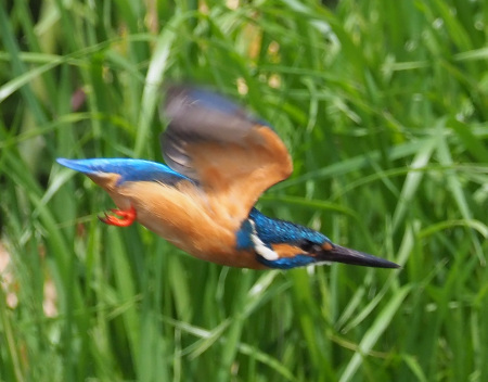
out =
[[[374,268],[400,268],[398,264],[385,260],[384,258],[369,255],[363,252],[349,250],[334,244],[332,250],[324,250],[317,255],[317,259],[331,263],[344,263]]]

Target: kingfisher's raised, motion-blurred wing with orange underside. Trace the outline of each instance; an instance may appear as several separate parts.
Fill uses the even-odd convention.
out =
[[[221,203],[242,205],[247,216],[259,195],[293,170],[286,147],[264,120],[229,100],[198,88],[168,89],[163,156]]]

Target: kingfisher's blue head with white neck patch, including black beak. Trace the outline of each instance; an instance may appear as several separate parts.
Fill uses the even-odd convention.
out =
[[[395,263],[333,244],[328,237],[307,227],[271,219],[256,208],[252,209],[237,232],[237,246],[253,249],[257,259],[270,268],[290,269],[331,263],[398,268]]]

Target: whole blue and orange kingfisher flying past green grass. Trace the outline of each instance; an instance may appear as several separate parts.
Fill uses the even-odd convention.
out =
[[[113,199],[117,208],[100,217],[103,222],[127,227],[138,221],[194,257],[223,266],[399,267],[255,207],[264,191],[293,171],[285,144],[267,122],[190,85],[167,87],[159,114],[169,120],[160,135],[166,165],[132,158],[57,158]]]

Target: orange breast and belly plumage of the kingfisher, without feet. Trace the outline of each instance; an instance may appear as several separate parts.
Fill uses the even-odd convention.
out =
[[[140,224],[195,257],[234,267],[262,268],[254,251],[236,247],[242,222],[231,214],[239,206],[220,205],[193,183],[125,182],[107,191],[119,208],[132,205]]]

